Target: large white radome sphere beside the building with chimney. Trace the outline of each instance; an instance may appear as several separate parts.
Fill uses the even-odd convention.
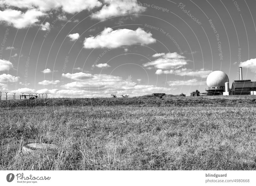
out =
[[[228,75],[219,70],[211,72],[206,79],[208,87],[225,87],[225,82],[229,82]]]

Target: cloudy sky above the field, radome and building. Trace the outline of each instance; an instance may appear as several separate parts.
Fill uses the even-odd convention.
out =
[[[177,95],[225,72],[256,81],[249,0],[0,0],[0,91]]]

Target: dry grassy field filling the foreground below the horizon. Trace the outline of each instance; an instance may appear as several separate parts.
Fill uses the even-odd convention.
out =
[[[255,97],[21,100],[0,107],[0,170],[256,170]],[[59,148],[21,153],[35,141]]]

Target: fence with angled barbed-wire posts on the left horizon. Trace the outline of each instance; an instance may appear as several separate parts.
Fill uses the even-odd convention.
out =
[[[47,99],[48,96],[47,94],[17,94],[16,92],[14,93],[8,93],[8,92],[0,92],[0,101],[2,100],[19,100],[19,99]]]

